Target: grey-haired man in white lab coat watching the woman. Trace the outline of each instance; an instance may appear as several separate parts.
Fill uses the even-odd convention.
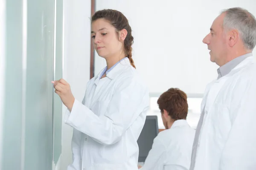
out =
[[[224,10],[204,38],[218,68],[202,101],[190,170],[256,170],[256,20]]]

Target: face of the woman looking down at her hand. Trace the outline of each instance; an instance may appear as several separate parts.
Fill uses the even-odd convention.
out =
[[[107,20],[95,20],[91,27],[93,46],[100,57],[106,59],[111,56],[119,55],[122,52],[122,42],[119,41],[116,28]]]

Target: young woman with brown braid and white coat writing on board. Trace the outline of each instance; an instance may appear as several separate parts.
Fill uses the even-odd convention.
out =
[[[53,82],[68,108],[65,123],[74,127],[68,170],[137,170],[149,94],[131,57],[131,27],[119,11],[97,11],[91,37],[107,66],[87,83],[82,103],[64,79]]]

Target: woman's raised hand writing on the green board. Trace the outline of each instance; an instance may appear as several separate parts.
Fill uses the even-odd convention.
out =
[[[75,97],[71,92],[70,85],[64,79],[52,81],[52,83],[54,84],[53,87],[55,88],[55,93],[60,96],[63,104],[67,106],[69,111],[71,111],[75,102]]]

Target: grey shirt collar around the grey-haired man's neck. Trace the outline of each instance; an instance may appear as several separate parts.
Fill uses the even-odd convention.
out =
[[[236,57],[235,59],[232,59],[230,62],[227,62],[226,64],[222,65],[220,68],[217,69],[218,72],[218,79],[226,76],[229,74],[229,72],[236,67],[240,62],[242,62],[247,57],[253,56],[252,53],[244,54],[240,57]]]

